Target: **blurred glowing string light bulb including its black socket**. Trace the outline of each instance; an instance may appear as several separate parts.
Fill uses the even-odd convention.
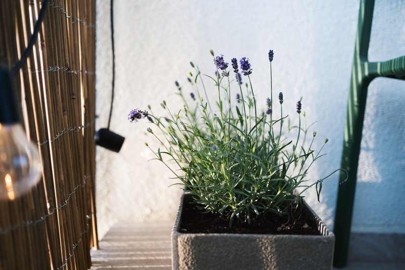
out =
[[[38,148],[19,122],[10,71],[0,66],[0,200],[25,194],[41,175]]]

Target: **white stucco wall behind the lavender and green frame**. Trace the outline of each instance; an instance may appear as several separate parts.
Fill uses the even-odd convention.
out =
[[[97,2],[96,128],[107,126],[111,96],[109,1]],[[117,220],[173,220],[180,189],[144,145],[153,142],[131,109],[175,103],[174,82],[186,85],[189,61],[203,73],[215,66],[209,50],[251,60],[258,100],[268,96],[269,49],[273,88],[285,103],[303,99],[327,156],[312,168],[318,179],[340,167],[359,1],[115,0],[115,99],[110,129],[124,137],[119,153],[97,148],[97,218],[102,237]],[[405,1],[377,0],[370,60],[405,55]],[[405,233],[405,82],[371,84],[360,155],[353,230]],[[285,105],[287,106],[287,105]],[[307,201],[333,225],[338,175]]]

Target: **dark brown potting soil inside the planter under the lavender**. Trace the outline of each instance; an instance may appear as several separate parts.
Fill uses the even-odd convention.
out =
[[[279,217],[275,214],[253,216],[251,223],[233,219],[229,227],[229,219],[206,210],[198,204],[191,203],[186,197],[180,224],[181,233],[217,233],[217,234],[271,234],[271,235],[320,235],[316,229],[316,221],[306,211],[302,211],[299,219]],[[278,230],[277,230],[278,228]]]

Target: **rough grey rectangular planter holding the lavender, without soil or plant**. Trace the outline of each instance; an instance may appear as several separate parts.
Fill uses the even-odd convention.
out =
[[[305,203],[320,236],[180,232],[185,196],[172,231],[173,269],[332,269],[335,235]]]

